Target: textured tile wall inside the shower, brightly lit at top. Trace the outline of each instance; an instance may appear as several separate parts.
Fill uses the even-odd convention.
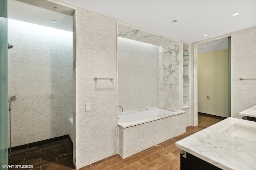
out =
[[[8,19],[12,146],[68,134],[72,117],[72,32]]]

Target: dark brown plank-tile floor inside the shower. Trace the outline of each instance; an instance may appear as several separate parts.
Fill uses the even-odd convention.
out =
[[[11,152],[9,165],[33,165],[33,168],[9,170],[73,170],[73,146],[68,138]]]

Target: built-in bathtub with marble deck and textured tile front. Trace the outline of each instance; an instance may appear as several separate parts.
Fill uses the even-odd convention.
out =
[[[119,115],[120,156],[126,158],[185,133],[184,113],[182,110],[154,108]]]

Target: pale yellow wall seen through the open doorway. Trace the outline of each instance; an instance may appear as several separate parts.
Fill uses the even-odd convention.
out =
[[[198,112],[228,117],[228,49],[198,54]]]

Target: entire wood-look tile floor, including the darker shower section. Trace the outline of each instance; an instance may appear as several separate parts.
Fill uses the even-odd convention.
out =
[[[225,118],[198,113],[198,126],[186,127],[186,133],[152,146],[142,152],[121,158],[118,154],[84,166],[79,170],[180,170],[180,149],[175,142],[209,127]],[[9,165],[33,165],[34,170],[73,170],[72,146],[69,139],[34,148],[14,151]],[[9,168],[14,170],[15,168]],[[17,169],[17,170],[25,170]]]

